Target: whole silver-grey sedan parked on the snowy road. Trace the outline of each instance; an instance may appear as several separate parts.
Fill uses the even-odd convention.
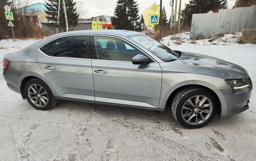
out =
[[[207,51],[205,51],[207,52]],[[164,111],[186,128],[249,108],[252,81],[223,59],[173,51],[134,31],[49,36],[4,55],[7,86],[36,109],[77,100]]]

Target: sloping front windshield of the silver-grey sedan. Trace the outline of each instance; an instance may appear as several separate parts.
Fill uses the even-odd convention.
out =
[[[150,52],[152,52],[154,55],[156,55],[164,62],[175,61],[179,58],[178,53],[166,47],[166,45],[149,38],[148,36],[132,35],[129,36],[129,38],[143,45],[143,47],[147,48]]]

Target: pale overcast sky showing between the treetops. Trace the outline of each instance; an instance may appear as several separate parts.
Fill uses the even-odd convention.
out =
[[[24,0],[25,1],[25,0]],[[77,3],[77,10],[79,11],[81,17],[95,17],[99,15],[113,16],[115,11],[117,0],[74,0]],[[166,8],[167,17],[171,16],[171,0],[163,0],[163,6]],[[175,1],[175,0],[174,0]],[[235,0],[227,0],[228,8],[234,6]],[[42,2],[44,0],[31,0],[29,4]],[[139,4],[139,14],[149,8],[154,2],[160,4],[160,0],[138,0]],[[182,7],[185,7],[185,3],[189,3],[189,0],[181,0]],[[179,10],[179,0],[178,0],[178,10]]]

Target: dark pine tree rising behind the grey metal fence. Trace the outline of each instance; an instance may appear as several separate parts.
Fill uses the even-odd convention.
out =
[[[227,8],[227,0],[191,0],[182,10],[182,19],[191,25],[193,13],[217,12],[225,8]]]

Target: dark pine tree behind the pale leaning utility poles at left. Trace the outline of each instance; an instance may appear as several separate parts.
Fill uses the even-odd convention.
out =
[[[67,11],[67,21],[68,26],[76,26],[78,22],[79,13],[77,13],[75,4],[73,0],[66,0],[66,11]],[[46,10],[45,13],[47,14],[47,20],[57,22],[57,15],[58,15],[58,0],[48,0],[45,1]],[[57,24],[56,24],[57,27]],[[65,21],[65,14],[63,9],[63,3],[61,1],[61,8],[60,8],[60,25],[63,31],[66,31],[66,21]]]

